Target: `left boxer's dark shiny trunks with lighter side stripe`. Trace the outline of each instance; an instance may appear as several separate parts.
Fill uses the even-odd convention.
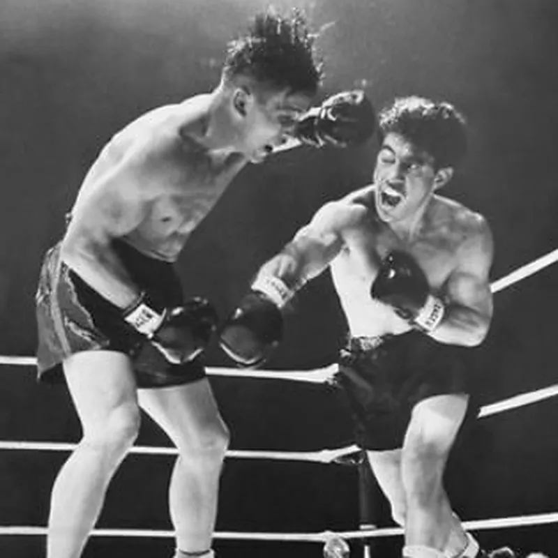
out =
[[[127,243],[113,241],[135,284],[162,307],[181,306],[183,293],[172,264],[143,255]],[[144,336],[121,317],[121,310],[61,262],[60,243],[43,260],[36,294],[38,377],[46,382],[63,378],[61,363],[71,354],[99,349],[122,352],[133,361],[137,386],[174,386],[205,376],[197,359],[170,364]]]

